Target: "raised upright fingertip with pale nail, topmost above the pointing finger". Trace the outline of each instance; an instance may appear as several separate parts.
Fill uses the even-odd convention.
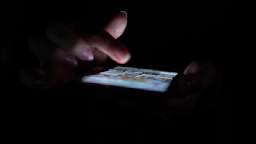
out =
[[[120,37],[127,26],[127,13],[121,11],[116,16],[114,16],[104,27],[110,35],[114,38]]]

